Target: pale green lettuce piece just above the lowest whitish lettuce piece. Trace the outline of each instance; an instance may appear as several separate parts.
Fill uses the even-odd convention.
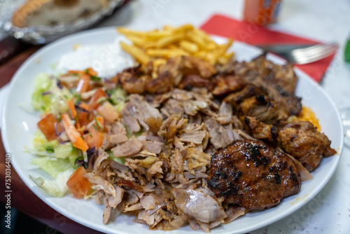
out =
[[[56,179],[58,174],[68,169],[73,169],[73,165],[68,158],[55,158],[51,156],[43,156],[40,158],[31,159],[31,163],[37,165],[42,170],[50,174],[53,179]]]

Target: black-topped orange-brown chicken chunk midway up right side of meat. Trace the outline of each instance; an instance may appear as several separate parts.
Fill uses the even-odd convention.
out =
[[[277,123],[288,118],[285,109],[264,95],[249,97],[237,106],[239,116],[253,116],[264,123]]]

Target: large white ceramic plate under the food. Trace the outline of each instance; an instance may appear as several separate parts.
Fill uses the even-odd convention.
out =
[[[23,108],[22,105],[28,105],[31,100],[34,77],[41,72],[52,72],[51,64],[57,62],[60,56],[73,50],[75,44],[97,45],[112,43],[116,36],[118,34],[114,27],[73,34],[38,50],[22,64],[22,67],[18,69],[12,79],[10,92],[4,107],[1,129],[3,143],[6,151],[12,156],[13,167],[15,167],[15,170],[31,191],[50,207],[69,217],[69,219],[104,233],[164,233],[160,230],[148,230],[147,226],[140,223],[133,223],[132,219],[134,219],[134,216],[127,214],[121,214],[116,221],[111,221],[108,225],[104,225],[102,223],[104,205],[97,205],[94,200],[76,200],[71,195],[67,195],[64,198],[52,198],[29,179],[29,174],[34,177],[50,179],[48,174],[39,170],[35,165],[31,165],[31,158],[35,156],[23,153],[25,146],[31,146],[31,139],[36,131],[36,123],[39,120],[38,113],[28,108]],[[216,38],[216,40],[220,42],[224,39]],[[251,60],[260,52],[257,48],[243,43],[235,43],[232,49],[235,50],[238,60]],[[276,63],[283,63],[283,60],[279,57],[270,56],[269,59]],[[232,223],[214,228],[211,230],[211,233],[247,233],[274,223],[295,212],[311,198],[314,198],[335,172],[343,145],[342,125],[337,109],[335,109],[328,95],[323,92],[318,84],[311,81],[311,78],[302,71],[296,70],[296,72],[300,78],[297,84],[297,95],[302,97],[302,102],[305,106],[310,106],[316,113],[322,126],[322,131],[331,139],[331,146],[338,153],[321,161],[321,164],[311,173],[314,179],[304,182],[300,193],[297,195],[283,199],[281,204],[271,209],[249,212]],[[201,232],[201,230],[194,231],[189,226],[185,226],[168,233]]]

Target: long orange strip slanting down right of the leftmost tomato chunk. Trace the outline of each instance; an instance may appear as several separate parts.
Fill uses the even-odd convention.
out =
[[[73,146],[78,149],[81,149],[82,151],[87,151],[87,149],[89,149],[89,146],[83,140],[78,130],[76,130],[76,127],[74,127],[74,125],[71,123],[71,118],[69,117],[69,114],[62,113],[61,116],[64,130],[66,130],[66,135],[68,135]]]

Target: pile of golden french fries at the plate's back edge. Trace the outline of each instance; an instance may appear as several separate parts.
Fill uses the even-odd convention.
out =
[[[200,57],[211,64],[225,64],[235,55],[227,51],[232,45],[232,39],[229,39],[228,43],[219,45],[206,32],[193,25],[181,27],[167,25],[162,30],[151,32],[119,27],[118,32],[124,34],[133,43],[130,46],[121,42],[121,48],[144,65],[153,62],[153,66],[158,67],[160,64],[165,64],[168,57],[182,55]]]

